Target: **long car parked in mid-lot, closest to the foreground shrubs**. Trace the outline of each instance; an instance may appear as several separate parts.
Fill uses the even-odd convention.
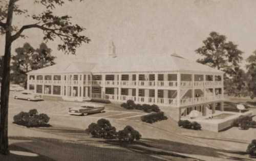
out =
[[[85,103],[81,106],[69,108],[69,115],[86,116],[104,112],[105,106],[96,103]]]

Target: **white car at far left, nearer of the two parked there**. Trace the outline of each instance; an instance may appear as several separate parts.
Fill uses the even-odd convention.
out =
[[[42,96],[39,94],[35,94],[32,91],[24,90],[20,91],[14,94],[14,99],[26,99],[28,101],[30,100],[43,100]]]

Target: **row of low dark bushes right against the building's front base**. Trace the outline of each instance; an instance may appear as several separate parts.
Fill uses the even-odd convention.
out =
[[[141,110],[147,113],[150,112],[160,112],[160,108],[156,104],[136,104],[133,100],[127,100],[126,103],[122,103],[121,107],[127,109],[127,110]]]

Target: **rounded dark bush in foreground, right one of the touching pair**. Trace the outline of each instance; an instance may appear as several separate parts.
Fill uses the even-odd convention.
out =
[[[118,139],[132,143],[134,140],[140,140],[141,135],[139,131],[135,130],[132,126],[126,126],[123,130],[118,131]]]

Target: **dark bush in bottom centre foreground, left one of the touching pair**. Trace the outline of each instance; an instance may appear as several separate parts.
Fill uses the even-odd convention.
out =
[[[116,128],[106,119],[99,119],[97,123],[91,123],[86,130],[94,138],[115,139],[117,136]]]

